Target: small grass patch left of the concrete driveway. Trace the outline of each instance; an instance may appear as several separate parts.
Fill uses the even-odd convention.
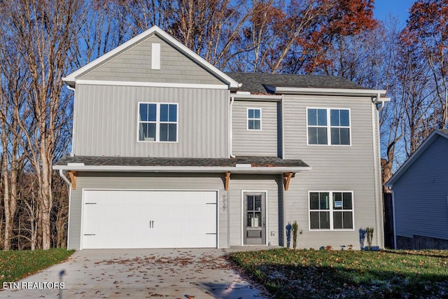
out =
[[[46,267],[66,260],[75,252],[60,248],[48,250],[0,251],[0,286],[18,281]]]

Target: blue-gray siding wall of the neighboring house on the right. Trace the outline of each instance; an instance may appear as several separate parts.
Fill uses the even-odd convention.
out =
[[[447,152],[437,137],[393,184],[396,235],[448,239]]]

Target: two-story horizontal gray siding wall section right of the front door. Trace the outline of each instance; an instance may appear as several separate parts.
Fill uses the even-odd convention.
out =
[[[307,145],[307,108],[350,109],[351,146]],[[382,246],[381,215],[374,183],[374,135],[370,97],[283,97],[283,158],[300,159],[312,167],[299,172],[284,191],[285,223],[297,221],[300,247],[353,244],[358,248],[360,227],[375,228],[374,245]],[[309,230],[309,191],[353,191],[353,230]]]

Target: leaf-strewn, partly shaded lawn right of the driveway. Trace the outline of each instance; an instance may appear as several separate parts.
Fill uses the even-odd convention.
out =
[[[276,298],[447,298],[448,251],[230,253]]]

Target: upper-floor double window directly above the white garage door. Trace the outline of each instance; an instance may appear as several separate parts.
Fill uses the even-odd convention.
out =
[[[178,104],[139,103],[139,141],[177,141]]]

